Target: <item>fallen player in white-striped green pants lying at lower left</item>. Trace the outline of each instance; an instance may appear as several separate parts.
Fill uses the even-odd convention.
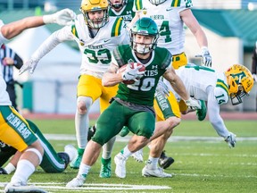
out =
[[[29,120],[27,120],[27,122],[29,123],[30,129],[33,130],[44,148],[44,155],[40,167],[45,172],[63,172],[70,161],[77,155],[76,148],[72,145],[67,145],[64,147],[64,152],[56,153],[54,151],[54,147],[52,147],[41,131],[38,130],[36,124]],[[0,167],[2,167],[10,157],[12,157],[11,161],[4,168],[0,168],[0,174],[10,174],[16,169],[21,153],[1,141],[0,143]]]

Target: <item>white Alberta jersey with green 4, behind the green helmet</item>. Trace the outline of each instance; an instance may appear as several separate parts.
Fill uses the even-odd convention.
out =
[[[167,0],[154,5],[148,0],[135,0],[133,11],[141,17],[150,17],[158,25],[160,38],[158,45],[167,48],[172,55],[184,52],[185,29],[180,12],[193,6],[191,0]]]

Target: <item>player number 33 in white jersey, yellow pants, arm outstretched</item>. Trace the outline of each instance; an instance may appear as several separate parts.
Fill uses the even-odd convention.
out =
[[[33,72],[39,60],[62,41],[75,40],[79,45],[82,63],[79,71],[75,116],[79,154],[70,163],[70,167],[74,169],[79,169],[84,149],[87,146],[90,106],[100,98],[100,112],[102,113],[118,88],[117,86],[112,88],[102,86],[102,76],[111,63],[111,52],[116,46],[129,44],[129,34],[125,23],[122,18],[109,17],[107,0],[82,0],[80,11],[82,14],[77,16],[74,25],[55,31],[21,68],[21,73],[29,69]],[[106,170],[101,169],[100,177],[111,176],[111,152],[114,140],[115,138],[112,138],[104,145],[102,163],[106,165]],[[107,174],[102,174],[102,172]]]

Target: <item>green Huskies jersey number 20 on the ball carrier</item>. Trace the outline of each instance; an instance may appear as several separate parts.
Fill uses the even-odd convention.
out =
[[[153,98],[156,86],[162,74],[171,63],[170,52],[166,48],[156,47],[150,60],[146,63],[140,62],[129,45],[118,46],[113,50],[113,58],[119,67],[127,63],[142,63],[145,65],[144,76],[134,84],[119,84],[117,97],[137,105],[153,106]]]

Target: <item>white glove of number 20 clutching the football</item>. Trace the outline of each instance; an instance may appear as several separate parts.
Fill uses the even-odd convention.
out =
[[[131,66],[128,64],[126,66],[126,70],[121,73],[122,79],[138,81],[144,76],[145,73],[145,71],[138,71],[140,68],[140,66],[137,66],[136,68],[132,69]]]

